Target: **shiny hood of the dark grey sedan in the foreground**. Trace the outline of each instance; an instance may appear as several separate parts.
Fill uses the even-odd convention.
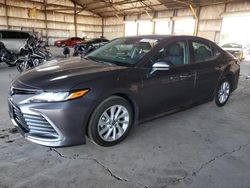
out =
[[[74,86],[112,75],[127,69],[123,66],[99,63],[79,57],[51,61],[17,77],[12,86],[21,89],[65,91]]]

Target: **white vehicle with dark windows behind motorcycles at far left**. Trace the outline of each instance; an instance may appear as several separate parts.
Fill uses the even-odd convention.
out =
[[[0,41],[4,43],[8,50],[20,54],[21,48],[24,47],[31,35],[31,33],[25,31],[0,30]]]

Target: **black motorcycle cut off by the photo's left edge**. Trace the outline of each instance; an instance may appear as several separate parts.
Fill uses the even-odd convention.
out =
[[[17,55],[10,52],[4,45],[4,43],[0,42],[0,62],[4,62],[10,67],[16,65]]]

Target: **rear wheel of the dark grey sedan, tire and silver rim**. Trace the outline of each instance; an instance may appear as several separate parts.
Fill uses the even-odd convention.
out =
[[[225,78],[218,85],[214,96],[215,104],[218,107],[222,107],[227,103],[230,96],[230,91],[231,91],[231,82],[228,78]]]

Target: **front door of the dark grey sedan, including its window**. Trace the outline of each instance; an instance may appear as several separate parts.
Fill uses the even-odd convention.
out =
[[[169,70],[154,70],[152,65],[165,62]],[[144,69],[141,108],[142,119],[166,112],[191,100],[195,73],[190,69],[186,41],[176,41],[160,49]]]

